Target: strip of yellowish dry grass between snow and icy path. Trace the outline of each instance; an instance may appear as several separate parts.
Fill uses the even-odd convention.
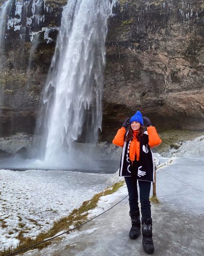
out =
[[[31,238],[24,238],[23,233],[26,231],[21,230],[16,237],[20,240],[20,243],[16,247],[9,247],[5,250],[0,251],[0,256],[5,256],[9,253],[14,253],[17,250],[24,249],[26,247],[32,246],[38,242],[41,242],[45,239],[48,239],[50,237],[54,237],[56,233],[68,230],[70,226],[77,227],[80,224],[84,223],[88,220],[88,211],[95,208],[97,206],[98,200],[102,196],[107,196],[110,194],[113,194],[115,191],[117,191],[122,185],[124,184],[124,181],[115,183],[111,187],[107,187],[103,192],[100,192],[98,194],[95,194],[91,200],[83,202],[83,204],[78,209],[73,209],[73,211],[68,215],[60,220],[54,222],[52,228],[50,228],[47,232],[42,232],[38,234],[38,236],[35,239]],[[56,241],[56,240],[54,240]],[[42,249],[48,245],[50,245],[52,242],[48,241],[45,243],[42,243],[38,246],[35,246],[35,248]],[[27,250],[24,250],[25,252]]]

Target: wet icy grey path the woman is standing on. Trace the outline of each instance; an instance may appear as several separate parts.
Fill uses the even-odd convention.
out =
[[[157,195],[152,204],[154,255],[202,255],[204,251],[203,157],[177,158],[157,170]],[[126,194],[125,185],[110,201],[114,205]],[[111,198],[110,198],[111,199]],[[106,209],[109,200],[101,208]],[[107,202],[106,202],[107,201]],[[142,237],[129,238],[131,221],[126,198],[106,214],[67,235],[58,244],[25,255],[147,255]]]

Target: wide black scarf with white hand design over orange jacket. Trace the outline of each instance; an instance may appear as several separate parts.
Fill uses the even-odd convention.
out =
[[[136,175],[137,180],[154,182],[155,162],[148,141],[148,133],[144,132],[143,136],[140,138],[140,158],[139,161],[134,161],[134,168],[130,160],[129,152],[131,141],[124,141],[119,176],[129,177]]]

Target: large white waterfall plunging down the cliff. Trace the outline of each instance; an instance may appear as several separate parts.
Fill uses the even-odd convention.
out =
[[[70,156],[74,141],[97,142],[101,130],[108,17],[116,0],[69,0],[37,122],[45,163]]]

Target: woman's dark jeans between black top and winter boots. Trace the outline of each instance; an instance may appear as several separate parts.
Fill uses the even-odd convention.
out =
[[[138,191],[137,191],[137,178],[136,176],[124,177],[127,190],[129,193],[130,211],[139,211],[138,206]],[[140,188],[140,203],[141,214],[143,218],[151,218],[151,205],[149,202],[149,193],[151,188],[151,182],[138,180]]]

